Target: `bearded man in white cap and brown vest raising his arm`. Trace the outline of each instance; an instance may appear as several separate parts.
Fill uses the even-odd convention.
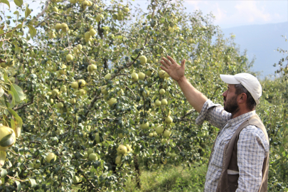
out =
[[[205,191],[267,191],[269,139],[255,113],[262,95],[253,75],[220,75],[228,83],[223,92],[224,108],[208,100],[185,78],[185,60],[178,65],[162,58],[162,70],[181,87],[186,99],[199,112],[196,124],[208,120],[220,128],[210,154]]]

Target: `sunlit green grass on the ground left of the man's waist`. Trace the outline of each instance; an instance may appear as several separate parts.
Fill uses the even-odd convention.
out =
[[[142,170],[142,188],[136,186],[133,178],[127,181],[125,191],[204,191],[207,166],[192,168],[166,164],[153,171]]]

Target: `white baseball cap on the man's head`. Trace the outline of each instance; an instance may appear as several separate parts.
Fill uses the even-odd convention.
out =
[[[220,75],[220,78],[228,84],[241,83],[247,89],[247,91],[250,92],[256,104],[259,104],[259,100],[262,95],[262,87],[255,76],[249,73],[238,73],[236,75]]]

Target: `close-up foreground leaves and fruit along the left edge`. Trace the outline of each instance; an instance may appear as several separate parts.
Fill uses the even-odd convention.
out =
[[[6,4],[6,6],[8,6],[10,9],[9,1],[1,0],[0,3]],[[23,1],[15,1],[15,4],[16,6],[21,6]],[[25,18],[23,18],[23,21],[25,21],[26,18],[31,14],[31,10],[28,9],[27,5],[26,9],[21,10],[25,13]],[[2,11],[1,13],[4,14]],[[23,26],[23,22],[20,24],[18,23],[19,12],[15,11],[14,14],[17,15],[17,21],[15,22],[16,26],[13,28],[9,26],[10,20],[6,20],[6,18],[4,18],[6,23],[0,24],[0,47],[4,47],[4,42],[9,41],[10,38],[14,36],[14,33],[16,33],[17,29],[21,29],[23,31],[23,28],[25,27]],[[7,18],[11,17],[7,16]],[[1,20],[2,19],[3,17],[1,17]],[[31,26],[31,28],[33,28],[33,26]],[[11,46],[12,43],[14,43],[15,51],[17,53],[20,52],[21,48],[18,48],[16,41],[9,42],[9,46]],[[4,55],[3,50],[1,50],[0,65],[0,185],[1,183],[4,183],[4,178],[7,176],[6,178],[11,178],[12,181],[15,181],[17,188],[20,189],[21,183],[14,177],[9,176],[6,169],[2,169],[2,166],[4,166],[6,161],[6,149],[9,149],[9,147],[13,146],[16,142],[16,138],[20,137],[21,135],[21,127],[23,122],[16,111],[25,106],[20,106],[19,104],[25,101],[26,97],[21,87],[15,83],[15,78],[13,76],[16,73],[11,72],[11,68],[14,68],[15,60],[11,57],[11,55],[7,53]],[[11,75],[11,73],[14,73],[14,75]],[[9,166],[11,166],[11,164]],[[31,186],[35,186],[36,184],[36,181],[33,178],[26,178],[25,181],[31,183]]]

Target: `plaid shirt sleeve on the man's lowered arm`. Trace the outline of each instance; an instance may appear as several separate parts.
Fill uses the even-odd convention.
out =
[[[257,192],[262,182],[263,161],[269,153],[269,143],[262,130],[249,125],[238,140],[239,179],[236,192]]]

